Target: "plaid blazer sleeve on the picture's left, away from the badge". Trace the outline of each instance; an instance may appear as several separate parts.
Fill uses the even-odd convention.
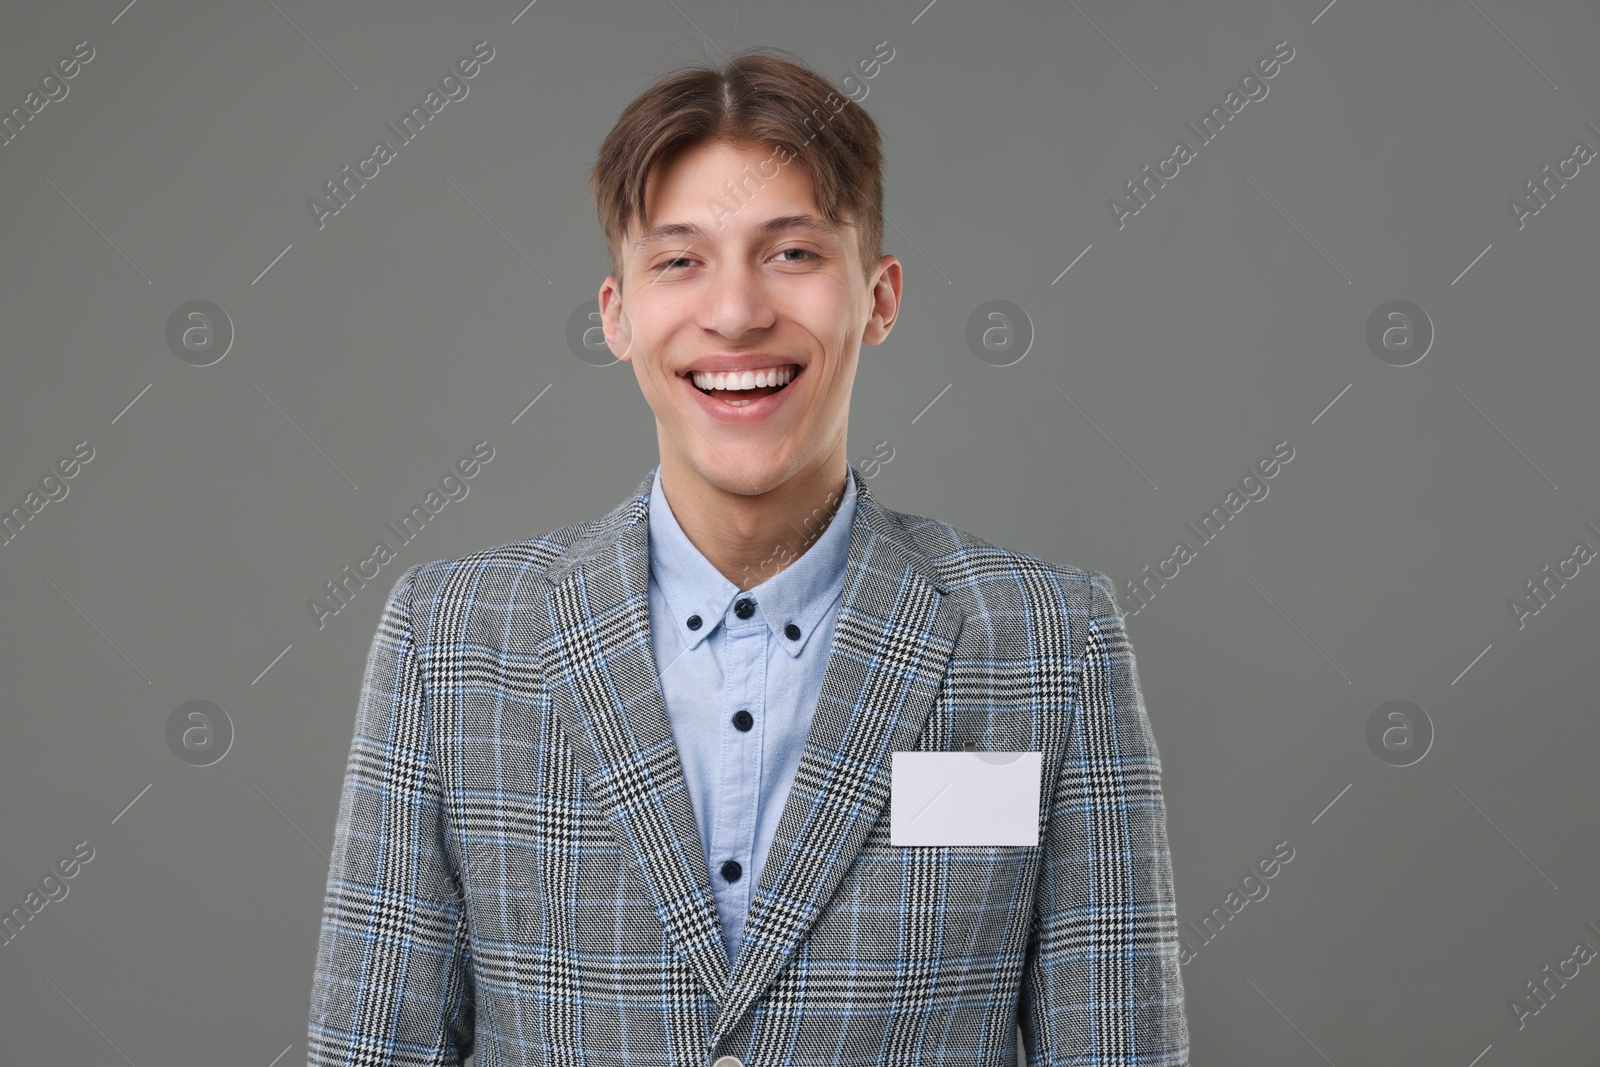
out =
[[[461,1064],[472,1051],[472,958],[411,630],[395,582],[362,680],[310,989],[307,1064]]]

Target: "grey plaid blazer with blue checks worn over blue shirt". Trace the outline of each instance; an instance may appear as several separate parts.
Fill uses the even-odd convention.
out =
[[[654,472],[394,584],[309,1064],[1187,1064],[1160,758],[1110,581],[858,514],[730,971],[650,640]],[[1035,846],[894,846],[896,750],[1042,752]],[[736,1057],[736,1059],[734,1059]]]

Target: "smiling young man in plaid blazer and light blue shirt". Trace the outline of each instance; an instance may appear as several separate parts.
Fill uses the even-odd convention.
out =
[[[634,101],[590,186],[661,462],[594,522],[395,582],[309,1062],[1010,1064],[1021,1025],[1030,1064],[1187,1064],[1112,582],[848,464],[902,285],[872,118],[742,54]],[[1034,843],[933,800],[898,843],[894,753],[955,785],[984,757]]]

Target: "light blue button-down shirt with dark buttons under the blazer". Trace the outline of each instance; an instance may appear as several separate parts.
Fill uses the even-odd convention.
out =
[[[730,963],[822,689],[854,515],[846,472],[832,522],[826,509],[797,518],[800,557],[741,590],[678,526],[656,467],[650,635]]]

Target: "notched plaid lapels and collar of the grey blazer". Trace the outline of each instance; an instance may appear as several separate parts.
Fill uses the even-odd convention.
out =
[[[782,971],[883,814],[890,753],[915,749],[965,621],[904,517],[854,467],[850,477],[856,517],[834,645],[731,973],[650,638],[654,470],[546,568],[550,633],[536,653],[552,709],[622,854],[717,1003],[714,1040]]]

